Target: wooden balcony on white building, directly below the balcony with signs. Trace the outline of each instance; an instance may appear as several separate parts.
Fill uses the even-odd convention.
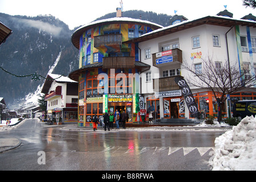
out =
[[[154,92],[179,90],[179,85],[175,83],[175,77],[181,76],[178,75],[153,79]]]

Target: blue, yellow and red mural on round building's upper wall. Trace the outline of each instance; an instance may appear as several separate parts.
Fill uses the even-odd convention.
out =
[[[87,64],[100,63],[102,62],[102,58],[111,52],[128,53],[129,56],[135,57],[135,61],[138,61],[138,48],[136,48],[134,43],[122,43],[122,46],[114,45],[95,48],[95,36],[122,34],[122,42],[126,42],[129,39],[137,38],[151,31],[153,31],[152,28],[138,24],[106,24],[87,30],[80,38],[79,68]]]

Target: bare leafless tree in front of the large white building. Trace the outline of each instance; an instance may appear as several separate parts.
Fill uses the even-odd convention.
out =
[[[212,91],[219,102],[225,102],[226,94],[233,94],[255,85],[255,76],[250,75],[248,65],[230,65],[228,61],[214,61],[213,57],[201,60],[201,69],[184,61],[183,68],[189,71],[185,78],[190,86]],[[218,121],[221,121],[221,116],[218,117]]]

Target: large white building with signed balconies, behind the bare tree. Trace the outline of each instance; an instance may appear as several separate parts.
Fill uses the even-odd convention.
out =
[[[195,20],[175,15],[170,20],[170,26],[130,40],[138,43],[142,63],[150,65],[141,74],[141,94],[147,108],[150,105],[155,107],[158,118],[191,118],[181,88],[174,81],[178,76],[185,80],[191,76],[183,69],[185,63],[193,65],[200,72],[203,69],[202,59],[210,56],[216,66],[224,65],[225,61],[240,66],[248,65],[251,67],[250,74],[255,75],[256,17],[249,14],[242,19],[233,19],[233,14],[227,10],[218,15],[221,16]],[[171,58],[166,55],[171,55]],[[190,89],[199,111],[217,114],[217,101],[212,92]],[[231,100],[256,99],[256,89],[243,90],[230,97]],[[227,117],[224,104],[222,116]]]

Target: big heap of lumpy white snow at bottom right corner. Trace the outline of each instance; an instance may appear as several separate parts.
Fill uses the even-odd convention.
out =
[[[256,118],[243,118],[215,139],[213,170],[256,170]]]

